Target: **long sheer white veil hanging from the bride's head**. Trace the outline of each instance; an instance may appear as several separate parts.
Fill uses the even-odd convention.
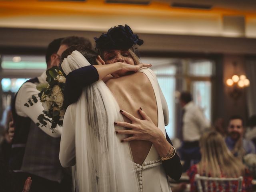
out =
[[[62,62],[67,75],[90,65],[73,51]],[[76,85],[74,85],[76,86]],[[99,80],[83,89],[76,103],[76,192],[138,192],[138,180],[128,142],[116,135],[115,121],[123,121],[120,108],[106,86]]]

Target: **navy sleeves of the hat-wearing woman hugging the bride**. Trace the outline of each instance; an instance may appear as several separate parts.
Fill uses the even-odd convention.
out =
[[[99,80],[97,69],[93,66],[85,66],[70,72],[66,77],[64,88],[64,107],[77,102],[82,93],[82,88]],[[172,145],[170,138],[166,133],[167,141]],[[176,153],[173,158],[163,161],[166,174],[174,180],[179,180],[182,174],[182,165],[180,157]]]

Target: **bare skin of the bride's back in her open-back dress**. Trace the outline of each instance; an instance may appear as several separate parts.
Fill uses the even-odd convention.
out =
[[[142,119],[138,109],[142,110],[158,124],[158,114],[154,90],[148,77],[142,72],[131,75],[113,78],[106,82],[106,85],[116,98],[120,109],[126,110],[136,118]],[[125,122],[130,122],[124,117]],[[152,146],[152,143],[144,140],[130,141],[132,156],[135,163],[142,164]]]

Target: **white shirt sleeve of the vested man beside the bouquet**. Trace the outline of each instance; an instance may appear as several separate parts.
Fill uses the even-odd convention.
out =
[[[42,73],[42,75],[38,77],[38,80],[39,83],[47,83],[46,72]],[[40,91],[36,89],[36,85],[37,84],[31,82],[24,83],[18,91],[15,102],[16,113],[22,117],[29,117],[34,123],[39,122],[37,118],[40,114],[43,114],[44,110],[38,97],[38,93]],[[27,103],[30,98],[32,98],[32,95],[36,96],[38,102],[33,102],[33,105],[29,107],[24,106],[24,104]],[[40,125],[39,128],[51,137],[60,137],[62,126],[57,125],[56,128],[54,128],[54,133],[52,133],[52,130],[50,129],[51,126],[52,124],[47,121],[46,127]]]

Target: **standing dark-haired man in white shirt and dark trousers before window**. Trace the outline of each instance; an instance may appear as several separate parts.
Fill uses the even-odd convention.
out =
[[[182,106],[181,159],[184,160],[183,172],[188,170],[192,164],[200,161],[199,139],[202,133],[210,128],[210,122],[205,118],[199,106],[192,101],[189,92],[180,94],[180,105]]]

